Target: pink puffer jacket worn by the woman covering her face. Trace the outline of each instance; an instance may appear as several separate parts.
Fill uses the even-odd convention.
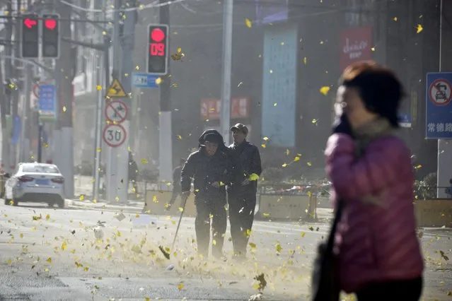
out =
[[[424,269],[409,149],[395,136],[372,141],[358,159],[354,148],[350,136],[333,134],[325,149],[333,198],[345,202],[335,252],[347,293],[374,281],[417,278]]]

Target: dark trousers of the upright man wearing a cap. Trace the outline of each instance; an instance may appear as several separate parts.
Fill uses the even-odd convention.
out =
[[[246,256],[246,247],[253,228],[256,194],[253,189],[228,192],[229,221],[234,253]]]

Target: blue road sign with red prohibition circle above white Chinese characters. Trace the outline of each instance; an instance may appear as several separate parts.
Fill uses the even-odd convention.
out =
[[[427,73],[426,129],[429,139],[452,138],[452,72]]]

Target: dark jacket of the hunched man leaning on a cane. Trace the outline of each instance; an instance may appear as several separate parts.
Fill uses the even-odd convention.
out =
[[[231,161],[224,152],[217,150],[215,155],[207,155],[204,147],[191,153],[182,168],[180,186],[182,191],[189,191],[192,179],[195,195],[207,199],[225,199],[226,187],[231,182]],[[220,187],[211,184],[219,182]]]

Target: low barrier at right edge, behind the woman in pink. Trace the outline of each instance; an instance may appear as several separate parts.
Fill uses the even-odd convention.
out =
[[[416,200],[418,227],[452,228],[452,199]]]

